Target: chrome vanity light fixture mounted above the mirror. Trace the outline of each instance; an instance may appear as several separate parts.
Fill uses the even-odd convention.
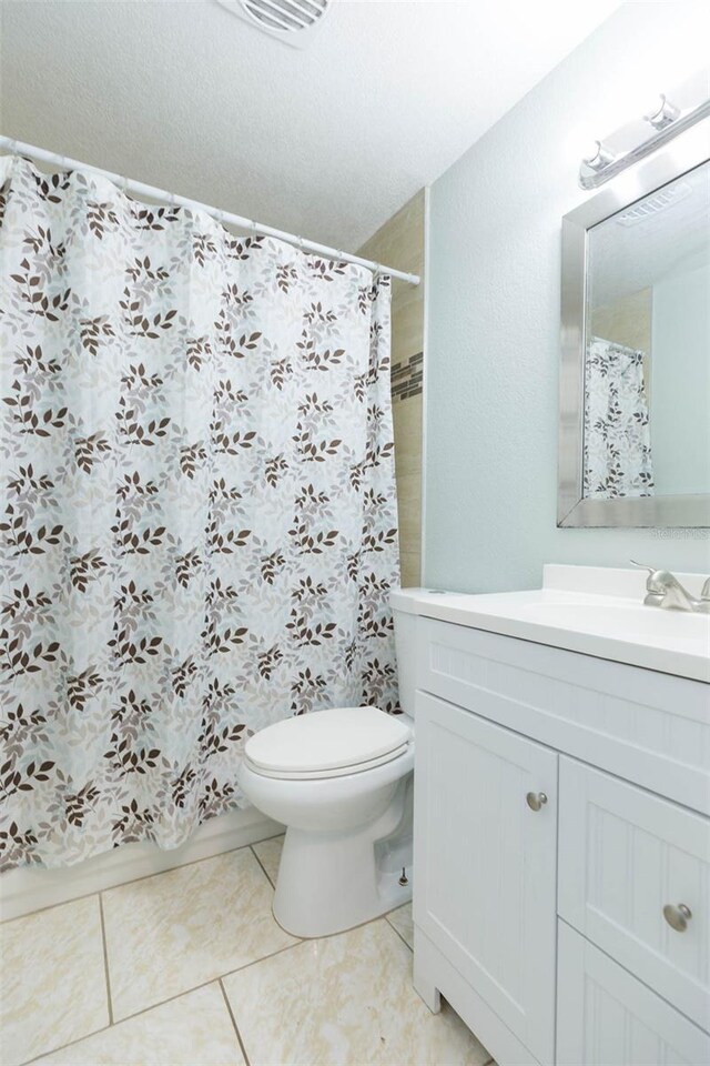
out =
[[[659,93],[647,114],[627,122],[604,140],[595,140],[592,150],[581,161],[579,184],[582,189],[598,188],[708,115],[708,77],[701,70],[668,95]]]

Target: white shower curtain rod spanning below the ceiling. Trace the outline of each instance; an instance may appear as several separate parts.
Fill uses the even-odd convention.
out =
[[[58,155],[57,152],[48,152],[43,148],[37,148],[33,144],[26,144],[23,141],[16,141],[10,137],[0,135],[0,151],[11,154],[29,155],[31,159],[41,163],[50,163],[53,167],[62,167],[69,170],[85,170],[101,178],[108,178],[115,185],[119,185],[124,192],[134,193],[136,197],[149,197],[152,200],[165,200],[171,207],[189,208],[192,211],[204,211],[217,222],[235,225],[241,230],[251,230],[252,233],[260,233],[264,237],[275,237],[281,241],[287,241],[290,244],[296,244],[304,252],[317,252],[321,255],[327,255],[331,259],[341,259],[346,263],[355,263],[357,266],[367,266],[375,273],[389,274],[390,278],[398,278],[406,281],[409,285],[419,284],[418,274],[407,274],[402,270],[393,270],[376,263],[372,259],[362,259],[359,255],[352,255],[349,252],[343,252],[337,248],[328,248],[327,244],[318,244],[316,241],[308,241],[295,233],[286,233],[285,230],[276,230],[273,225],[262,225],[261,222],[254,222],[252,219],[244,219],[239,214],[232,214],[230,211],[220,211],[217,208],[211,208],[206,203],[200,203],[199,200],[189,200],[186,197],[179,197],[173,192],[166,192],[164,189],[155,189],[153,185],[146,185],[142,181],[133,181],[124,178],[122,174],[113,174],[100,167],[93,167],[91,163],[82,163],[79,160],[70,159],[68,155]]]

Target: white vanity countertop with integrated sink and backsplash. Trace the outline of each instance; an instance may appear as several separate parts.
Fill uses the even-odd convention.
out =
[[[699,595],[702,577],[682,577]],[[639,571],[547,565],[541,589],[479,595],[405,590],[394,602],[444,622],[710,682],[710,615],[647,606],[645,592]]]

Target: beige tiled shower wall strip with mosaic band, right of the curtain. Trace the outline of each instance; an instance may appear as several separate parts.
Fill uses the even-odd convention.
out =
[[[425,194],[420,190],[359,250],[367,259],[422,278],[416,288],[397,280],[392,286],[392,410],[403,585],[420,584],[422,573],[424,225]]]

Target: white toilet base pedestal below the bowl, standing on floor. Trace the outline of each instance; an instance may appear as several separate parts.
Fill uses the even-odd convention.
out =
[[[412,898],[410,819],[405,814],[410,781],[402,781],[397,793],[383,817],[351,833],[288,827],[273,907],[282,928],[305,938],[329,936]],[[406,885],[399,884],[403,866]]]

